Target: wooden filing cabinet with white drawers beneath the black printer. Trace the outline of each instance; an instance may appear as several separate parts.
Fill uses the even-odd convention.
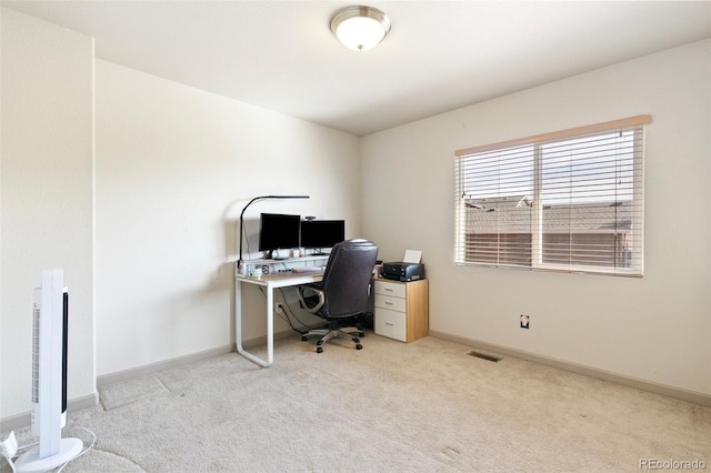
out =
[[[375,333],[411,342],[429,333],[428,281],[375,280]]]

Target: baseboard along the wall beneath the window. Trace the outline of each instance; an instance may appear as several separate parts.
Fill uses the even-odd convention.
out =
[[[585,366],[582,364],[571,363],[563,360],[558,360],[558,359],[553,359],[544,355],[539,355],[535,353],[530,353],[523,350],[509,349],[505,346],[495,345],[493,343],[487,343],[487,342],[481,342],[474,339],[468,339],[465,336],[459,336],[459,335],[452,335],[444,332],[438,332],[435,330],[430,330],[430,335],[438,339],[461,343],[467,346],[485,350],[488,352],[493,352],[502,355],[528,360],[528,361],[532,361],[547,366],[558,368],[560,370],[570,371],[572,373],[584,374],[587,376],[610,381],[613,383],[622,384],[624,386],[635,388],[638,390],[648,391],[655,394],[662,394],[662,395],[674,397],[681,401],[711,406],[711,394],[705,394],[698,391],[684,390],[682,388],[670,386],[668,384],[647,381],[639,378],[627,376],[627,375],[614,373],[611,371],[599,370],[599,369]]]

